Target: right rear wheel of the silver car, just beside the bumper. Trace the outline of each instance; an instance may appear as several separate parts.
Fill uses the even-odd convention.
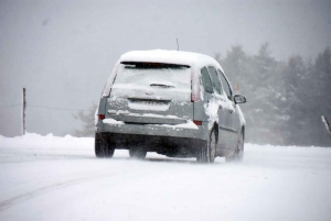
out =
[[[212,164],[216,158],[216,144],[217,144],[217,136],[215,129],[211,131],[210,139],[206,143],[206,146],[200,148],[196,155],[196,162],[203,164]]]

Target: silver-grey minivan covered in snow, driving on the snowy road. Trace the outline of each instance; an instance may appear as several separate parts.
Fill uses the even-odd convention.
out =
[[[119,58],[96,111],[95,154],[130,157],[147,152],[169,157],[216,156],[242,161],[245,119],[221,67],[206,55],[178,51],[134,51]]]

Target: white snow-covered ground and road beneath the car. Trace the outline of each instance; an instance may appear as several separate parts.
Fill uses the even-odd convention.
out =
[[[0,136],[0,220],[331,220],[331,148],[246,144],[242,164],[94,156],[94,140]]]

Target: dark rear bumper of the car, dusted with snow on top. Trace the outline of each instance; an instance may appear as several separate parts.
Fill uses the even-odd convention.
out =
[[[196,151],[206,145],[207,125],[197,129],[152,124],[107,124],[98,122],[96,137],[103,139],[115,148],[129,150],[141,146],[172,157],[195,157]]]

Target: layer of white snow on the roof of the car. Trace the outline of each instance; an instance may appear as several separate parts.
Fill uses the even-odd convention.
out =
[[[196,68],[201,68],[206,65],[214,65],[223,71],[221,65],[214,58],[199,53],[182,51],[132,51],[121,55],[119,62],[178,64],[194,66]]]

